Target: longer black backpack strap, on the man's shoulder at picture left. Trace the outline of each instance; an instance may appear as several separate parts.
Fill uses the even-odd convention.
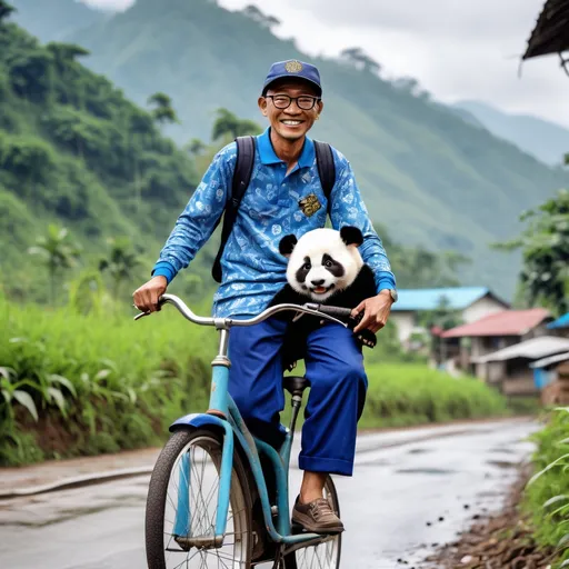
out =
[[[254,137],[237,137],[237,162],[233,170],[233,182],[231,193],[228,196],[226,212],[223,214],[223,227],[221,229],[221,244],[211,269],[211,276],[217,282],[221,282],[221,256],[227,240],[233,229],[237,219],[239,204],[244,196],[254,166]]]

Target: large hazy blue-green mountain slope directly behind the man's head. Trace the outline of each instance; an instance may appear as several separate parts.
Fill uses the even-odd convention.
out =
[[[46,9],[44,18],[56,16]],[[309,58],[270,28],[269,18],[231,12],[212,0],[138,0],[66,41],[89,49],[84,64],[138,103],[156,91],[168,93],[182,124],[167,132],[179,142],[209,140],[219,107],[260,120],[257,98],[270,63],[311,60],[320,68],[326,103],[313,136],[350,159],[372,219],[395,241],[471,257],[462,282],[510,296],[518,259],[489,244],[517,234],[519,213],[567,186],[568,174],[405,82],[391,83],[356,62]]]

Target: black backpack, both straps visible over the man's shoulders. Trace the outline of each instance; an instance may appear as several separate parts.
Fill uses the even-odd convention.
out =
[[[221,256],[226,247],[227,240],[231,234],[233,224],[237,219],[239,204],[244,196],[254,164],[254,137],[237,137],[237,162],[233,170],[233,180],[231,184],[231,193],[226,204],[223,216],[223,227],[221,229],[221,244],[211,269],[211,276],[217,282],[221,282]],[[328,214],[330,214],[330,193],[336,183],[336,167],[333,163],[333,154],[330,144],[315,140],[316,163],[318,166],[318,176],[322,190],[328,200]],[[219,221],[218,221],[219,223]]]

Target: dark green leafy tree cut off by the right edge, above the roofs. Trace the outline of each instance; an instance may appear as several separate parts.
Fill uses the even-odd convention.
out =
[[[520,249],[523,264],[520,284],[529,306],[545,305],[555,313],[569,311],[569,191],[537,209],[523,212],[520,221],[528,221],[521,236],[512,241],[495,244],[511,251]]]

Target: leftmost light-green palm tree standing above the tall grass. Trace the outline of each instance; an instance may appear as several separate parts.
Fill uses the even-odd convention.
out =
[[[79,258],[80,248],[70,241],[69,232],[63,227],[50,224],[48,233],[36,239],[36,246],[28,249],[30,254],[38,254],[46,263],[50,282],[50,303],[56,301],[56,279],[58,272],[71,269]]]

